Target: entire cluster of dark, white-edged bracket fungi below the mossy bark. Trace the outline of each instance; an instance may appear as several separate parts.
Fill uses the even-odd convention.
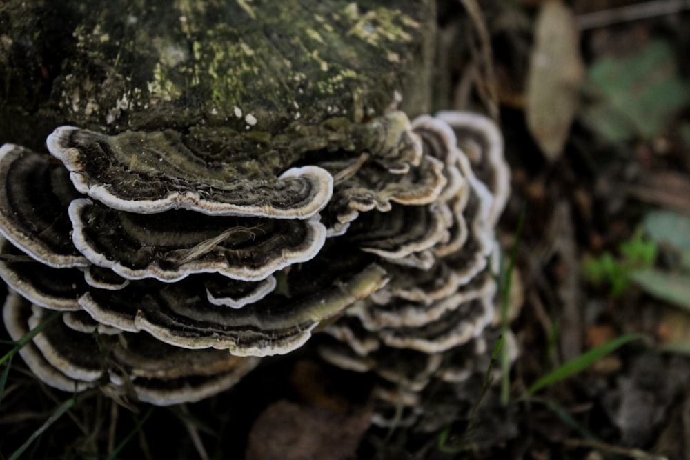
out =
[[[21,349],[31,370],[197,401],[320,328],[324,359],[376,372],[411,412],[432,378],[466,379],[495,316],[500,134],[460,112],[343,126],[290,144],[283,169],[172,130],[63,126],[50,155],[0,148],[6,328],[63,312]]]

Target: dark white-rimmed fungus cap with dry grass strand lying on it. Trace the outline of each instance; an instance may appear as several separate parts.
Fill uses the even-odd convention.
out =
[[[259,219],[179,210],[136,214],[89,199],[72,201],[69,214],[75,247],[90,263],[125,279],[172,282],[207,272],[261,281],[276,270],[312,259],[326,240],[318,215]]]

